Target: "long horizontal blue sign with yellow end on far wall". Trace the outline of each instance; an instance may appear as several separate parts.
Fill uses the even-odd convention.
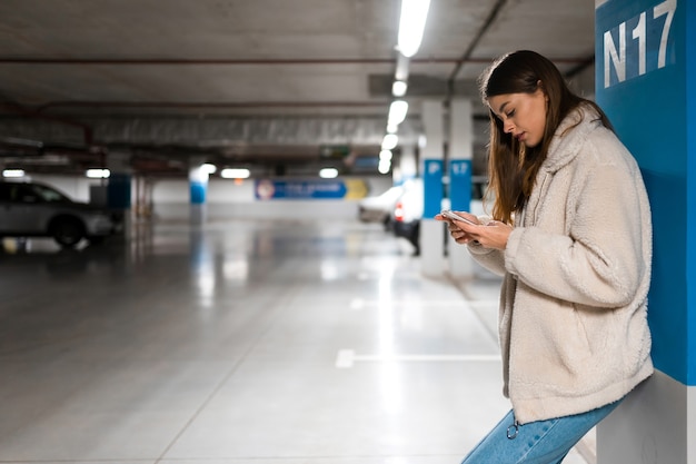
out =
[[[270,180],[257,179],[255,195],[258,199],[344,198],[348,189],[341,180]]]

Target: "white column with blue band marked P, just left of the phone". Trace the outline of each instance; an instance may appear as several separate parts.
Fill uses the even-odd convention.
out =
[[[440,101],[424,101],[422,125],[426,142],[422,147],[424,209],[420,221],[421,272],[428,276],[441,276],[445,272],[445,226],[434,217],[443,204],[444,171],[444,118]]]

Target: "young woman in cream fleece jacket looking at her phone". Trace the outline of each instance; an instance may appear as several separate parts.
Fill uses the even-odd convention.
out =
[[[548,59],[506,55],[480,89],[493,218],[436,218],[504,276],[498,328],[513,409],[464,464],[560,463],[653,373],[648,197],[605,113]]]

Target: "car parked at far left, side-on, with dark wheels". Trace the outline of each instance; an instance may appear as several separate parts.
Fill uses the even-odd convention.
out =
[[[109,211],[70,199],[44,184],[0,180],[0,236],[52,237],[61,247],[101,243],[113,234]]]

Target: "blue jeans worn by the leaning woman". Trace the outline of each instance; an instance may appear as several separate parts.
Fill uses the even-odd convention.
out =
[[[622,401],[583,414],[516,425],[510,411],[461,464],[559,464]]]

